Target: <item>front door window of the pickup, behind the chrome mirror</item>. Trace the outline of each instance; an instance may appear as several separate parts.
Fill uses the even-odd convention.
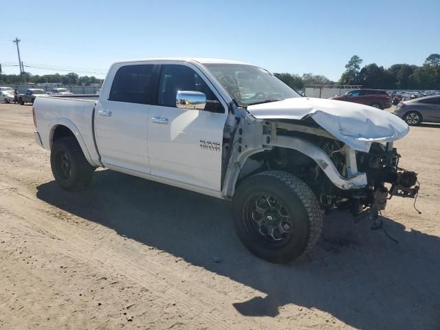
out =
[[[190,67],[185,65],[164,65],[160,73],[157,104],[176,107],[177,91],[200,91],[206,95],[206,110],[223,112],[217,96],[205,81]]]

